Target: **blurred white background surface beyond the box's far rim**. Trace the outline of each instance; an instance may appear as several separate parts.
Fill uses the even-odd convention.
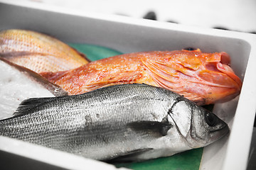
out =
[[[31,0],[19,0],[26,3]],[[35,0],[32,0],[35,1]],[[37,0],[43,4],[97,13],[118,13],[142,18],[154,11],[157,21],[174,21],[204,28],[222,27],[242,32],[256,31],[255,0]],[[136,3],[136,4],[134,4]],[[186,5],[184,5],[186,4]]]

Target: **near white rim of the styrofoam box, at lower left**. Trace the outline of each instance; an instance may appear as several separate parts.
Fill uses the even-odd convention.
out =
[[[112,164],[0,136],[1,169],[117,169]],[[120,168],[119,170],[125,170]]]

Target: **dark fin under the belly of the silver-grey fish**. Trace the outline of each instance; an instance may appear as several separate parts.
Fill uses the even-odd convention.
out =
[[[120,154],[117,157],[114,157],[112,159],[102,160],[107,163],[118,163],[118,162],[134,162],[139,161],[137,159],[137,156],[140,154],[144,154],[145,152],[149,152],[153,148],[143,148],[143,149],[135,149],[129,152],[125,152],[123,154]]]

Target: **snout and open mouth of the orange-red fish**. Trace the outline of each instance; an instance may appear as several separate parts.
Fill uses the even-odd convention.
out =
[[[230,101],[240,94],[242,88],[241,79],[230,67],[230,56],[226,52],[220,52],[218,56],[218,60],[206,61],[204,69],[198,72],[205,85],[205,104]]]

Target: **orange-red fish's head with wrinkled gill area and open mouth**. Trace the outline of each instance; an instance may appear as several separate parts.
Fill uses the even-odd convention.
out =
[[[142,62],[161,87],[198,105],[223,103],[240,94],[242,81],[230,67],[230,56],[226,52],[207,53],[197,49],[160,55],[161,60],[144,59]]]

